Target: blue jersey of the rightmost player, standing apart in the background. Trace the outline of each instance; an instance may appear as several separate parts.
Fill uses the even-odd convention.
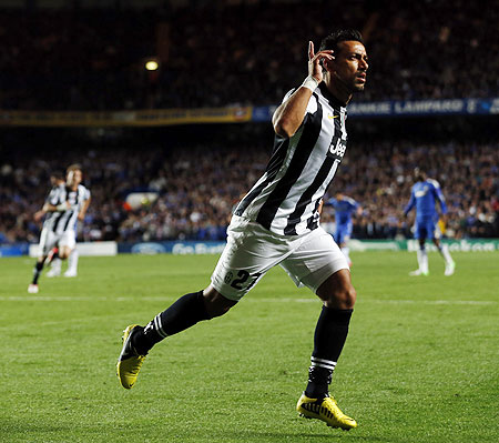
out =
[[[418,181],[413,187],[404,214],[416,207],[416,220],[438,220],[437,201],[440,204],[441,213],[446,214],[447,207],[438,181],[431,179]]]

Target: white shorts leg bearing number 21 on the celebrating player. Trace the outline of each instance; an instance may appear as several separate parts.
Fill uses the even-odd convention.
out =
[[[226,299],[241,300],[291,252],[284,239],[277,239],[256,223],[232,222],[227,244],[212,274],[212,286]]]

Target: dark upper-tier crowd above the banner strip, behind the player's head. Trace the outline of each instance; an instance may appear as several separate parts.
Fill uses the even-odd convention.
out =
[[[0,109],[275,104],[303,80],[307,41],[337,27],[364,33],[364,100],[497,97],[491,3],[486,12],[466,0],[2,10]],[[152,57],[160,70],[147,72]]]

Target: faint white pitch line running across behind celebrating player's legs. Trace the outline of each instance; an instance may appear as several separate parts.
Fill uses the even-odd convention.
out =
[[[70,296],[70,295],[11,295],[11,296],[2,296],[0,295],[0,301],[14,301],[14,302],[130,302],[130,301],[171,301],[174,300],[175,296],[165,296],[165,295],[130,295],[130,296]],[[293,299],[293,298],[258,298],[252,299],[251,296],[246,296],[244,299],[245,302],[269,302],[269,303],[319,303],[320,301],[316,298],[309,299]],[[359,300],[359,304],[364,303],[377,303],[377,304],[447,304],[447,305],[496,305],[499,302],[497,301],[483,301],[483,300]]]

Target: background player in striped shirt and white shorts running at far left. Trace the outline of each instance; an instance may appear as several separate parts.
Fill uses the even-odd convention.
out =
[[[29,293],[38,293],[38,280],[45,262],[54,258],[68,259],[75,246],[77,222],[83,220],[90,204],[90,191],[81,184],[83,178],[79,164],[67,170],[65,182],[50,191],[43,209],[34,214],[35,220],[45,215],[40,235],[39,256],[33,270]]]

